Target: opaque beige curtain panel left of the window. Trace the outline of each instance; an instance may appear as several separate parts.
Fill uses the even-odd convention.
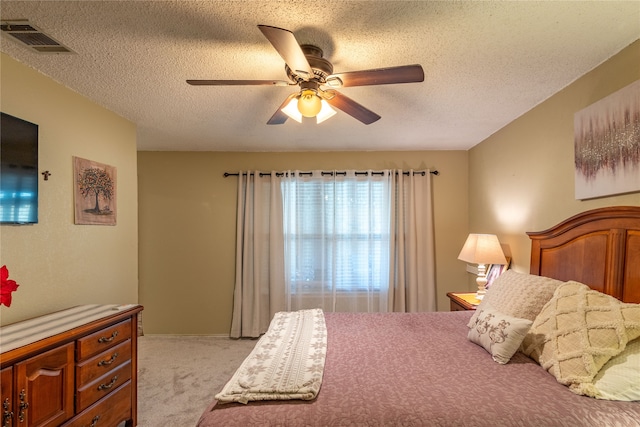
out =
[[[285,309],[280,178],[240,172],[232,338],[258,337]]]

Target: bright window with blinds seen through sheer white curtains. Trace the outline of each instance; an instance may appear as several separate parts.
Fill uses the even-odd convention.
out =
[[[283,181],[285,280],[292,294],[386,293],[388,187],[384,176],[318,173]]]

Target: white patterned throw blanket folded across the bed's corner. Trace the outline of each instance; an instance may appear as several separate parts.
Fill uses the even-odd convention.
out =
[[[320,309],[279,312],[242,362],[219,402],[314,399],[320,391],[327,328]]]

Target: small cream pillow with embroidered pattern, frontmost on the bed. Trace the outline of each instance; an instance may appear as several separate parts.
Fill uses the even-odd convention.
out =
[[[484,347],[493,360],[504,365],[518,350],[533,322],[500,313],[487,304],[477,311],[478,316],[467,338]]]

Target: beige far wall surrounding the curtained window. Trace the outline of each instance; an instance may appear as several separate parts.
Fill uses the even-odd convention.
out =
[[[235,280],[234,177],[287,169],[424,169],[433,177],[438,309],[466,290],[467,152],[139,152],[140,303],[148,334],[228,334]]]

